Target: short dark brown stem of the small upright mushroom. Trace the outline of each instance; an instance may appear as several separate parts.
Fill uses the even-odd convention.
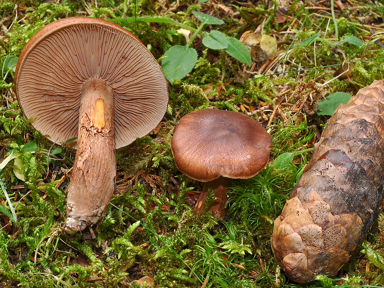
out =
[[[203,189],[201,190],[200,196],[197,199],[194,210],[198,214],[201,214],[204,210],[204,205],[208,196],[208,189],[212,188],[214,190],[214,195],[217,197],[217,200],[213,201],[209,207],[210,211],[213,211],[213,216],[223,218],[225,216],[224,206],[227,203],[227,187],[232,183],[232,179],[220,176],[215,180],[205,182]]]

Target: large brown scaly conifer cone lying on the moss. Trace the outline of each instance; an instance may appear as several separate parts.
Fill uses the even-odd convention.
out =
[[[360,89],[328,120],[271,237],[288,277],[334,277],[379,215],[384,198],[384,80]]]

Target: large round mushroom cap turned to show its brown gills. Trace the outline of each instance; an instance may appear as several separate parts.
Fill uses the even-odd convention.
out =
[[[116,148],[149,133],[167,110],[167,81],[148,49],[119,25],[88,17],[52,22],[28,41],[15,92],[32,125],[61,144],[77,137],[82,84],[90,78],[114,91]]]

